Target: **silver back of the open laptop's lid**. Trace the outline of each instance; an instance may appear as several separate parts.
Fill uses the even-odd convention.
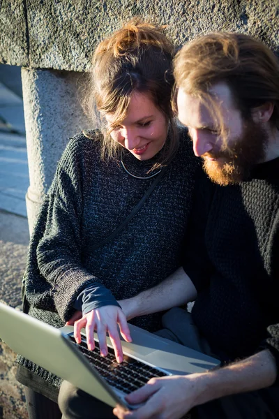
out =
[[[16,353],[102,402],[113,407],[116,404],[128,406],[75,348],[68,336],[1,302],[0,338]]]

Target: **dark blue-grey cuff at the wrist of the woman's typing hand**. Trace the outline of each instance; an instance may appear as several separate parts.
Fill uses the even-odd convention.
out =
[[[82,311],[82,316],[93,309],[98,309],[106,305],[120,307],[111,291],[98,282],[86,286],[77,296],[73,304],[76,310]]]

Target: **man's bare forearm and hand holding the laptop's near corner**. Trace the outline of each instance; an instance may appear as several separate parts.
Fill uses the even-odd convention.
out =
[[[209,372],[151,378],[144,387],[126,396],[129,404],[146,404],[133,412],[116,406],[114,415],[119,419],[178,419],[194,406],[213,399],[269,387],[276,375],[276,360],[264,350]]]

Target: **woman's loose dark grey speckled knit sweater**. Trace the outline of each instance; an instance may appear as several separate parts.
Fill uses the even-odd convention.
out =
[[[139,161],[130,152],[123,157],[126,168],[138,176],[146,176],[157,159]],[[155,286],[176,270],[182,261],[196,170],[197,159],[186,130],[181,130],[178,152],[140,211],[112,242],[87,251],[126,219],[154,178],[135,179],[119,161],[101,161],[98,140],[83,134],[71,139],[31,238],[29,314],[60,327],[89,284],[103,284],[121,300]],[[157,330],[160,316],[142,316],[133,323]],[[22,358],[20,363],[28,366]]]

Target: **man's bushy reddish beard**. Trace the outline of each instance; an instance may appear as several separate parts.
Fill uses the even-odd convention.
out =
[[[236,138],[233,146],[227,146],[218,153],[205,153],[204,171],[210,179],[221,186],[236,184],[250,176],[251,169],[264,161],[268,135],[260,124],[248,121],[243,134]],[[213,159],[206,159],[206,156]]]

